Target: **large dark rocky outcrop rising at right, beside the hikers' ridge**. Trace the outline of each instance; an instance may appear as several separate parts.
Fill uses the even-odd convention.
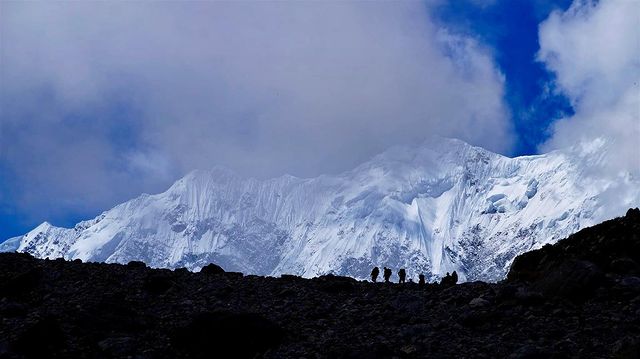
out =
[[[516,257],[507,282],[528,282],[545,295],[587,300],[640,263],[640,210],[586,228],[555,245]],[[613,260],[612,260],[613,258]]]

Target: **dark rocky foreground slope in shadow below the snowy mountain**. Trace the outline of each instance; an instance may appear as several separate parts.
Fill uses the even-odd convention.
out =
[[[0,254],[0,358],[640,356],[640,210],[452,287]]]

